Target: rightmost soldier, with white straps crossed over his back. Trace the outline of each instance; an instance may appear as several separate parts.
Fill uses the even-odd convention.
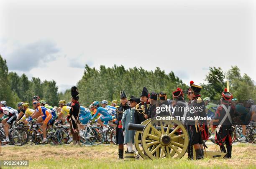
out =
[[[227,91],[225,88],[224,92],[221,93],[222,97],[220,100],[220,106],[215,112],[215,116],[210,122],[211,128],[212,124],[217,125],[216,129],[216,137],[215,143],[220,146],[220,151],[227,153],[224,158],[231,158],[232,152],[232,137],[231,132],[232,129],[232,119],[235,111],[235,107],[233,105],[230,106],[231,99],[233,98],[232,94]],[[213,122],[213,123],[212,123]],[[213,129],[213,128],[212,128]],[[225,146],[227,146],[227,150]],[[227,152],[228,151],[228,152]]]

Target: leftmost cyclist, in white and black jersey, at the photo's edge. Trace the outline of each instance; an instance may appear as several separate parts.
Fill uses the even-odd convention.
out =
[[[10,125],[13,124],[13,122],[17,119],[18,111],[15,110],[14,108],[6,106],[6,101],[1,101],[0,102],[0,117],[6,115],[7,118],[2,120],[2,124],[5,125],[5,140],[2,142],[9,142],[9,129]]]

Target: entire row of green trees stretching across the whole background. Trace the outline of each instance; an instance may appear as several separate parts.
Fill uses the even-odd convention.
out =
[[[31,102],[34,95],[40,96],[52,106],[57,106],[60,99],[70,101],[70,89],[58,93],[54,80],[41,81],[35,77],[29,80],[25,74],[18,76],[15,72],[8,72],[6,61],[1,56],[0,65],[0,100],[8,101],[8,105],[15,106],[19,101]],[[210,67],[205,78],[207,83],[200,84],[202,98],[219,100],[226,87],[226,80],[229,81],[230,92],[235,98],[255,99],[255,82],[247,74],[241,75],[237,66],[231,66],[227,72],[223,72],[221,68]],[[119,101],[121,90],[124,90],[127,96],[139,97],[143,86],[146,86],[149,92],[162,91],[169,99],[172,99],[172,92],[177,87],[183,90],[189,87],[172,71],[165,73],[159,67],[154,71],[147,71],[141,67],[125,69],[124,66],[116,65],[112,68],[100,66],[99,70],[85,65],[82,79],[74,85],[79,89],[79,102],[84,106],[89,106],[92,101]]]

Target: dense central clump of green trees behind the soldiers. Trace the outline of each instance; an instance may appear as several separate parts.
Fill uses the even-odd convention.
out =
[[[173,72],[166,74],[160,68],[155,71],[146,71],[143,68],[129,68],[114,65],[112,68],[100,66],[100,70],[85,66],[84,75],[77,83],[80,93],[80,103],[88,106],[92,101],[120,100],[120,91],[124,90],[127,96],[139,97],[142,88],[148,91],[167,93],[172,99],[172,92],[177,88],[186,89],[186,86]]]

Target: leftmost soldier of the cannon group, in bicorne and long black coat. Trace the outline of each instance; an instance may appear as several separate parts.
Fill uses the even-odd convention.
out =
[[[122,117],[126,109],[130,108],[127,96],[124,91],[120,91],[120,102],[121,105],[116,108],[116,118],[118,124],[116,126],[116,144],[118,144],[118,159],[123,159],[123,126],[122,126]]]

